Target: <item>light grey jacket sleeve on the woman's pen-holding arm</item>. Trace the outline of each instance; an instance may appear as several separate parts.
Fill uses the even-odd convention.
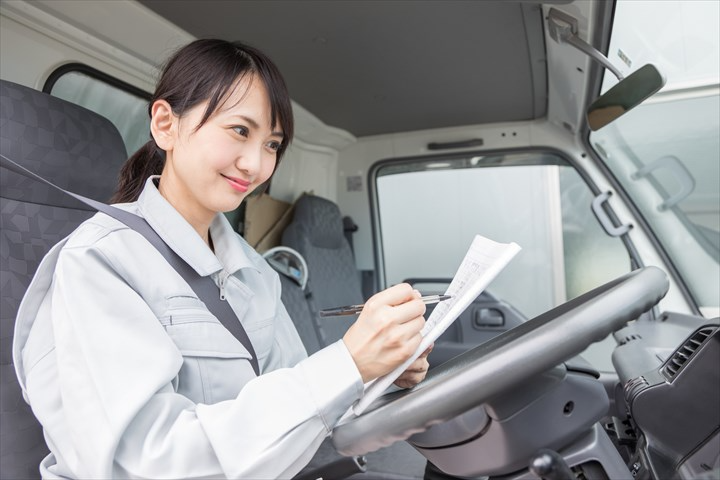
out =
[[[234,399],[191,402],[173,388],[180,352],[99,248],[64,249],[51,299],[57,408],[70,431],[45,428],[80,477],[292,477],[362,393],[340,341]]]

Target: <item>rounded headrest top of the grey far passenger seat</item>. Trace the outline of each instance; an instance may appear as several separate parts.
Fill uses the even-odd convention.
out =
[[[310,243],[320,248],[340,248],[345,241],[338,206],[322,197],[302,195],[295,204],[293,223],[302,226]]]

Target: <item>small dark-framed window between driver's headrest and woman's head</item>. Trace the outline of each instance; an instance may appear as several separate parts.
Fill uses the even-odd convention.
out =
[[[110,120],[129,154],[149,140],[150,94],[80,64],[64,65],[50,75],[43,91],[83,106]]]

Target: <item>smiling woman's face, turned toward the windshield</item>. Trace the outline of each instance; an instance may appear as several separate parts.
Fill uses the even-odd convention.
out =
[[[240,205],[270,178],[283,139],[270,125],[270,100],[263,82],[238,82],[227,100],[196,130],[203,102],[173,119],[172,138],[160,193],[193,226],[207,227],[218,212]]]

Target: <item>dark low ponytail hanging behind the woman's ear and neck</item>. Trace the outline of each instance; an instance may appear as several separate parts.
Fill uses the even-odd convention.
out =
[[[128,158],[120,170],[118,188],[111,203],[134,202],[140,197],[145,181],[151,175],[160,175],[165,165],[165,152],[150,140]]]

